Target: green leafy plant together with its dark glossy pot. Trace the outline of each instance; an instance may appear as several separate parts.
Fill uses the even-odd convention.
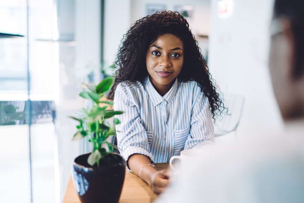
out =
[[[113,102],[101,100],[112,84],[112,77],[105,78],[94,89],[82,83],[86,90],[79,96],[92,100],[94,105],[90,110],[82,109],[83,117],[71,117],[79,122],[73,140],[88,137],[93,145],[91,153],[78,156],[73,164],[74,186],[83,203],[117,203],[123,187],[125,161],[119,154],[113,153],[116,146],[106,140],[115,135],[115,125],[120,121],[115,118],[112,127],[104,123],[105,119],[123,112],[107,110]]]

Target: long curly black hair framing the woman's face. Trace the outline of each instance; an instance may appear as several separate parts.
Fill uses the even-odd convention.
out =
[[[108,98],[114,99],[116,86],[123,81],[143,83],[148,75],[146,67],[146,54],[150,45],[163,34],[173,34],[184,43],[184,63],[179,81],[196,81],[204,95],[209,100],[213,118],[225,109],[219,93],[216,92],[216,84],[209,73],[209,68],[201,54],[201,49],[194,35],[189,29],[187,20],[178,12],[156,12],[137,20],[123,35],[116,60],[114,62],[116,76],[114,85]]]

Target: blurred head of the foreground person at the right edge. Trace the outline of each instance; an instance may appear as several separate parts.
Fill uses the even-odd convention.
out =
[[[304,116],[304,2],[276,0],[269,68],[282,117]]]

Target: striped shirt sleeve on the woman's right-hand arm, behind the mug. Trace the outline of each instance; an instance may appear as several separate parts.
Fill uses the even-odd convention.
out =
[[[190,135],[185,149],[199,148],[214,142],[214,127],[209,101],[200,88],[195,88],[197,96],[192,107]]]

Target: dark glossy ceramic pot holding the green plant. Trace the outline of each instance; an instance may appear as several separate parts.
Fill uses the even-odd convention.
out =
[[[87,159],[90,153],[78,156],[73,164],[73,182],[82,203],[117,203],[123,188],[126,164],[116,153],[111,157],[112,165],[90,167]]]

